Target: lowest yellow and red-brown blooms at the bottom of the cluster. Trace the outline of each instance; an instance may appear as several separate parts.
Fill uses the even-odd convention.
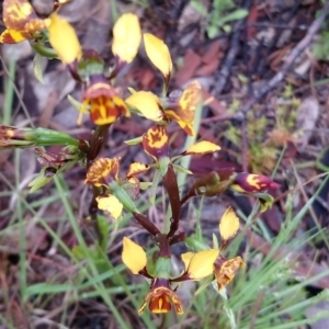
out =
[[[207,249],[198,252],[182,253],[184,271],[177,277],[171,277],[171,261],[168,246],[168,239],[161,235],[157,239],[161,242],[160,253],[155,264],[155,273],[150,274],[147,270],[147,256],[144,249],[128,238],[124,238],[122,260],[133,274],[140,274],[151,279],[150,292],[139,308],[141,313],[147,303],[152,313],[167,313],[173,304],[178,314],[183,314],[183,306],[179,296],[174,292],[174,284],[193,280],[200,281],[207,276],[214,276],[218,291],[223,290],[234,277],[237,270],[245,266],[240,257],[226,259],[220,254],[229,239],[231,239],[239,229],[239,219],[229,207],[223,215],[219,224],[222,246],[217,249]],[[166,243],[167,241],[167,243]],[[166,254],[167,253],[167,254]]]

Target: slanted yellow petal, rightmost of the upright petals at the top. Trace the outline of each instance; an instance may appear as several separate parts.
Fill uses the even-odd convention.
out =
[[[149,60],[161,71],[164,78],[169,77],[172,70],[172,61],[163,41],[150,33],[145,33],[144,45]]]

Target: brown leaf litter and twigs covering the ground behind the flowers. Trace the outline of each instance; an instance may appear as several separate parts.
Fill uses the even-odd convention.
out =
[[[47,14],[53,1],[32,2],[38,14]],[[83,47],[100,52],[109,67],[113,63],[110,50],[113,25],[110,2],[100,0],[95,4],[94,1],[72,0],[61,12],[77,29]],[[218,35],[209,38],[206,25],[213,9],[209,1],[203,2],[207,8],[207,16],[200,14],[189,1],[149,1],[148,8],[118,1],[117,9],[120,12],[137,13],[143,30],[156,34],[168,44],[174,63],[170,91],[183,89],[194,79],[203,87],[206,105],[203,109],[198,139],[214,141],[222,146],[222,150],[216,156],[193,159],[191,170],[195,175],[223,167],[271,174],[284,149],[274,178],[282,186],[273,195],[276,200],[274,206],[262,216],[269,231],[275,236],[285,218],[287,191],[293,189],[291,194],[293,212],[297,213],[324,179],[317,178],[317,174],[324,171],[316,166],[316,161],[329,166],[329,152],[326,149],[329,141],[329,89],[326,80],[329,75],[329,61],[328,57],[318,59],[315,56],[317,52],[315,49],[321,41],[321,27],[329,26],[329,19],[325,22],[319,21],[321,14],[328,13],[328,4],[324,7],[320,1],[315,0],[236,1],[237,7],[249,10],[249,15],[245,20],[230,23],[230,32],[219,29]],[[90,138],[92,124],[86,117],[82,125],[77,126],[78,113],[67,100],[67,94],[80,99],[81,86],[70,78],[59,61],[44,63],[45,84],[41,84],[33,75],[33,54],[29,45],[3,45],[1,53],[3,81],[1,100],[4,100],[3,77],[7,76],[8,64],[11,58],[16,60],[18,93],[13,100],[12,125],[29,126],[32,121],[35,126]],[[127,95],[127,87],[159,92],[161,77],[140,49],[134,63],[117,78],[116,84],[124,95]],[[30,115],[29,120],[22,103]],[[149,161],[139,147],[127,147],[124,140],[140,136],[150,125],[151,123],[141,118],[134,121],[124,118],[116,123],[111,128],[102,155],[122,157],[124,170],[132,161]],[[175,125],[170,126],[170,133],[174,136],[172,152],[177,154],[183,148],[185,133]],[[57,150],[56,147],[49,148],[49,151]],[[15,173],[12,151],[0,152],[0,168],[2,172],[0,191],[9,191],[8,182],[14,182]],[[35,155],[31,150],[24,150],[20,163],[22,191],[27,191],[31,181],[29,179],[38,170],[39,164]],[[81,223],[88,216],[90,200],[83,184],[84,174],[83,168],[72,168],[65,175],[71,191],[70,200]],[[26,196],[29,202],[50,195],[50,188],[46,186],[42,193]],[[328,191],[329,184],[326,184],[314,203],[313,212],[303,219],[300,231],[316,228],[315,217],[321,227],[328,226]],[[0,229],[12,224],[15,203],[16,195],[0,196],[0,209],[9,209],[0,218]],[[219,214],[226,205],[232,204],[246,215],[253,205],[252,200],[236,197],[232,194],[207,203],[205,208],[212,207],[212,212],[204,212],[204,225],[209,238],[214,228],[217,228]],[[41,207],[39,212],[56,229],[58,225],[56,218],[61,216],[64,208],[60,204],[56,204],[46,208]],[[189,211],[186,215],[188,213]],[[33,216],[26,213],[25,219],[27,223]],[[183,220],[182,224],[186,225],[186,230],[192,229],[188,220],[186,223]],[[138,228],[136,224],[134,225],[135,229]],[[42,228],[33,225],[26,230],[26,235],[31,283],[47,281],[54,271],[68,265],[68,260],[63,256],[49,253],[53,241]],[[63,239],[69,247],[76,242],[67,227],[64,228]],[[252,241],[253,248],[264,246],[261,237],[253,236]],[[2,288],[16,285],[16,242],[18,231],[0,237]],[[284,254],[284,248],[282,246],[279,253]],[[263,247],[264,253],[266,250]],[[120,254],[118,250],[116,252]],[[311,274],[316,275],[328,268],[328,249],[319,241],[315,249],[305,250],[303,262],[309,268],[308,265],[298,268],[298,274],[304,275],[310,269]],[[328,280],[316,282],[314,288],[329,288]],[[0,297],[0,311],[18,317],[23,322],[18,321],[18,328],[20,326],[27,328],[24,327],[25,315],[15,288],[10,294],[10,300],[9,304],[1,305]],[[50,304],[49,309],[56,309],[60,300]],[[76,306],[70,310],[71,328],[82,328],[79,327],[79,319],[84,319],[86,324],[87,318],[98,321],[91,324],[91,328],[107,328],[109,315],[102,307],[99,300]],[[132,319],[134,314],[132,309],[123,311]]]

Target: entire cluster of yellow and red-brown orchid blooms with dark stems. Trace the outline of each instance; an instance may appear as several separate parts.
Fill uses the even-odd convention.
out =
[[[90,140],[77,140],[68,135],[43,128],[0,126],[0,148],[63,145],[64,149],[58,155],[37,149],[39,162],[45,168],[54,169],[55,174],[72,164],[86,167],[84,183],[92,185],[93,191],[90,206],[92,219],[95,222],[98,219],[94,212],[97,208],[109,214],[118,224],[125,211],[131,213],[154,238],[157,251],[151,258],[147,257],[147,252],[139,245],[127,237],[123,238],[123,262],[133,274],[143,275],[150,281],[150,291],[139,313],[146,305],[156,314],[167,313],[173,305],[178,314],[183,314],[183,306],[177,294],[180,282],[211,279],[217,283],[217,291],[222,291],[234,280],[237,271],[245,266],[245,262],[239,256],[228,259],[224,254],[240,227],[235,212],[228,207],[219,220],[220,243],[216,241],[213,248],[203,246],[201,250],[194,249],[181,254],[184,269],[182,273],[172,275],[172,246],[179,242],[190,246],[192,239],[180,227],[182,206],[191,197],[215,196],[230,189],[237,193],[258,197],[262,205],[265,201],[263,207],[265,208],[273,202],[265,191],[276,189],[279,184],[263,175],[235,172],[231,168],[224,168],[197,178],[181,196],[177,172],[192,172],[180,167],[177,160],[184,156],[203,156],[220,150],[219,146],[202,140],[179,155],[171,156],[170,152],[170,135],[167,127],[172,122],[188,135],[196,135],[195,111],[202,105],[200,83],[192,81],[181,92],[168,92],[173,68],[169,48],[157,36],[150,33],[143,34],[138,18],[133,13],[125,13],[115,22],[112,43],[114,66],[110,72],[106,71],[102,57],[92,49],[82,49],[75,29],[58,13],[65,3],[66,1],[58,0],[55,2],[53,13],[46,19],[39,19],[27,0],[4,0],[3,22],[7,30],[1,34],[0,42],[29,41],[41,55],[56,56],[67,67],[72,78],[82,86],[79,111],[81,115],[89,113],[90,121],[95,125],[94,134]],[[47,46],[47,42],[52,48]],[[148,59],[162,76],[162,93],[157,95],[151,91],[131,90],[131,95],[124,99],[113,81],[136,57],[141,42]],[[141,136],[127,140],[127,145],[139,145],[150,157],[151,163],[133,162],[127,173],[123,174],[118,157],[101,158],[99,155],[110,125],[122,116],[131,117],[132,113],[152,122]],[[154,180],[149,184],[139,182],[137,177],[148,170],[154,170]],[[45,177],[45,171],[42,171],[32,188],[36,190],[49,181],[50,179]],[[151,185],[155,191],[160,182],[167,192],[171,208],[171,218],[166,232],[140,213],[135,204],[141,188]]]

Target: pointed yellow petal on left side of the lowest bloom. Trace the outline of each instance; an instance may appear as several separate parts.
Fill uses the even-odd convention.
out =
[[[133,274],[138,274],[139,271],[146,266],[146,252],[139,245],[124,237],[122,261],[133,272]]]

